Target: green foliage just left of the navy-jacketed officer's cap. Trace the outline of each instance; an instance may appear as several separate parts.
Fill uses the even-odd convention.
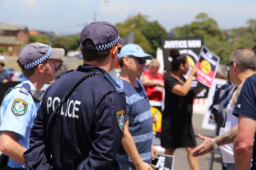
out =
[[[59,36],[52,40],[52,46],[58,47],[58,48],[64,48],[66,54],[70,50],[76,50],[77,48],[79,48],[79,45],[80,45],[79,34]]]

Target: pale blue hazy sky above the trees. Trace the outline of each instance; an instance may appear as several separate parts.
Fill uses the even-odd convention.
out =
[[[256,19],[255,0],[173,1],[173,0],[0,0],[0,22],[27,26],[29,29],[80,33],[94,20],[123,22],[140,12],[148,20],[158,20],[166,29],[195,20],[200,12],[214,18],[221,29],[246,26]]]

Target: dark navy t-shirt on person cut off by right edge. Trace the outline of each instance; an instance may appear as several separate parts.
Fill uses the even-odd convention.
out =
[[[243,115],[253,120],[256,120],[256,74],[247,78],[243,84],[241,92],[239,94],[236,106],[234,107],[233,114],[238,117],[238,115]],[[252,163],[256,167],[256,142],[253,142],[253,152],[252,152]]]

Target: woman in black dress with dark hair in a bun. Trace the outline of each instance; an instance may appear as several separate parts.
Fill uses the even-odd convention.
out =
[[[191,169],[200,169],[197,157],[191,155],[196,147],[196,138],[191,124],[194,90],[191,83],[197,68],[194,67],[187,80],[182,76],[188,70],[185,55],[174,49],[170,51],[173,58],[172,69],[165,79],[165,101],[162,116],[161,146],[167,155],[173,155],[176,148],[186,148]]]

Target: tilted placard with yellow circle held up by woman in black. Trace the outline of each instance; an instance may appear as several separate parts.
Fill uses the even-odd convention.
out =
[[[199,61],[197,62],[197,80],[211,87],[216,76],[220,57],[208,50],[205,45],[202,46]]]

